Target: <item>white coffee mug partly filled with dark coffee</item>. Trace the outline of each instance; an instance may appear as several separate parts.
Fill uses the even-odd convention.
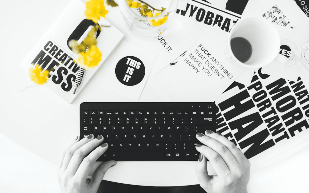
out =
[[[231,48],[231,40],[241,37],[251,44],[252,54],[248,61],[241,62],[235,57]],[[235,40],[235,39],[234,39]],[[239,20],[231,29],[223,53],[226,61],[247,68],[260,68],[271,63],[280,49],[280,37],[273,24],[264,18],[248,17]],[[239,57],[238,57],[239,58]]]

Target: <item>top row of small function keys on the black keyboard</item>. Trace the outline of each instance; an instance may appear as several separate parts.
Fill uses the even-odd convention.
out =
[[[213,115],[212,111],[83,111],[83,116],[97,115],[146,115],[146,116],[166,116],[166,115]]]

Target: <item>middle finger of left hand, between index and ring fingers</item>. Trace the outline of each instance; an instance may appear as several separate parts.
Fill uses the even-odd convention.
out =
[[[92,135],[92,134],[91,134]],[[83,162],[84,158],[96,147],[98,147],[103,142],[103,136],[100,135],[97,138],[88,141],[88,143],[84,144],[80,148],[78,148],[72,158],[71,161],[66,169],[68,175],[74,175]]]

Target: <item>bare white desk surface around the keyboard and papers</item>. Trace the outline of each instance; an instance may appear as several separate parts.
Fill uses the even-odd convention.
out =
[[[70,0],[2,2],[0,188],[6,188],[4,190],[8,191],[5,192],[16,192],[12,191],[14,188],[10,183],[16,175],[20,175],[18,181],[24,178],[23,181],[27,182],[25,184],[29,187],[32,187],[32,180],[41,175],[40,170],[46,169],[46,176],[56,178],[56,171],[52,173],[50,169],[57,168],[55,164],[58,164],[62,149],[79,135],[80,103],[131,102],[130,99],[103,90],[100,86],[113,56],[98,70],[71,105],[44,86],[24,89],[33,83],[20,67],[20,63],[69,2]],[[140,102],[164,100],[147,82]],[[19,153],[21,156],[16,156]],[[271,162],[264,163],[265,167],[252,171],[249,192],[308,192],[307,160],[308,146],[280,162],[271,165]],[[146,186],[192,185],[198,183],[195,165],[196,162],[118,162],[104,179]],[[53,183],[50,186],[55,187],[54,183],[57,181],[49,182]],[[46,184],[47,182],[44,183]],[[40,190],[49,192],[47,189],[42,186]]]

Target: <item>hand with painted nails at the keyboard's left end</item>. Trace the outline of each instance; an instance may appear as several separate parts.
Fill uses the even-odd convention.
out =
[[[61,193],[96,193],[106,171],[117,164],[116,161],[95,161],[107,150],[108,144],[103,136],[94,138],[93,134],[78,141],[77,137],[65,149],[58,167],[58,183]],[[97,167],[97,168],[95,168]],[[91,170],[94,173],[91,178]]]

